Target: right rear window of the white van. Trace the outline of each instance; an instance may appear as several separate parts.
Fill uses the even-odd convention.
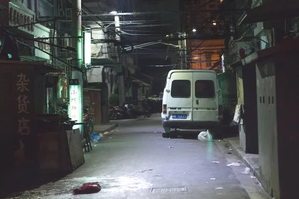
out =
[[[212,80],[197,80],[195,82],[196,98],[214,98],[215,87]]]

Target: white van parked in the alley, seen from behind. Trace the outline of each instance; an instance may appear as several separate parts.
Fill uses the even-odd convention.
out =
[[[215,71],[169,71],[162,101],[163,137],[169,137],[171,128],[214,133],[221,127],[222,95]]]

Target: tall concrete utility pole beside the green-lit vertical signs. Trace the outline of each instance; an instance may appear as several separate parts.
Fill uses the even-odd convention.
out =
[[[72,36],[77,38],[72,38],[72,46],[77,48],[77,52],[72,52],[72,65],[82,68],[82,19],[81,19],[81,0],[72,0]],[[82,122],[83,115],[83,78],[80,71],[72,71],[72,79],[78,79],[78,107],[76,114],[78,114],[77,122]],[[72,99],[70,99],[71,101]],[[71,108],[71,107],[70,107]],[[80,132],[82,133],[82,125],[79,125]]]

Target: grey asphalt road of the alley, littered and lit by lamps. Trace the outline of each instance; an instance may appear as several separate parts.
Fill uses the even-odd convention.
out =
[[[30,199],[266,199],[252,175],[241,172],[223,141],[162,138],[160,118],[124,120],[94,143],[85,164],[67,177],[28,191]],[[196,138],[196,135],[195,135]],[[212,163],[217,161],[219,163]],[[211,180],[211,178],[215,180]],[[102,191],[72,195],[83,183]],[[216,188],[223,188],[217,190]]]

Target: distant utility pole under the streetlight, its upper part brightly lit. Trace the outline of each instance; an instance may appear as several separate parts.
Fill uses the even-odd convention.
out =
[[[115,15],[114,16],[115,21],[115,31],[116,31],[116,40],[121,41],[120,33],[120,16]],[[119,81],[119,105],[122,106],[125,102],[125,86],[124,86],[124,70],[123,70],[123,64],[122,64],[122,54],[121,54],[121,47],[117,46],[117,75],[118,75],[118,81]]]

